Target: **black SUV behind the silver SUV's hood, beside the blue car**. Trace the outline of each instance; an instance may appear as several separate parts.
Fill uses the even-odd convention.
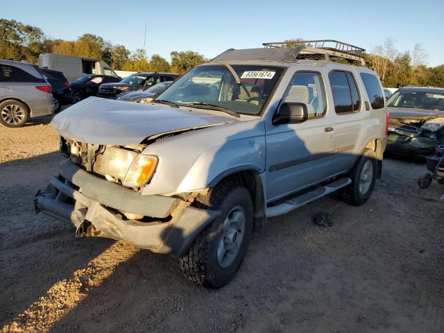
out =
[[[117,99],[121,92],[145,90],[157,83],[176,80],[178,76],[179,74],[173,73],[135,73],[123,78],[119,83],[105,83],[101,85],[97,96],[104,99]]]

